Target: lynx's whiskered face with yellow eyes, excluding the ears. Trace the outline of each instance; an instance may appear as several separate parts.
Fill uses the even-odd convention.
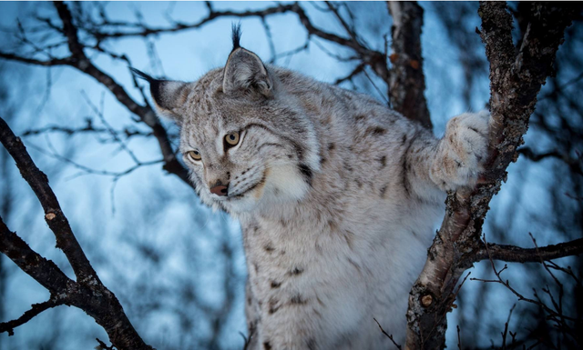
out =
[[[205,83],[203,78],[195,91],[209,91]],[[287,124],[301,123],[301,115],[274,102],[233,98],[216,89],[182,112],[187,116],[180,151],[206,204],[246,212],[260,203],[301,199],[309,188],[313,170],[302,156],[308,145],[286,130]]]

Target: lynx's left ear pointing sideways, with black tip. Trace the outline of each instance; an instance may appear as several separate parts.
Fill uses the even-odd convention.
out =
[[[159,114],[181,124],[182,115],[179,115],[177,109],[186,102],[188,89],[185,87],[189,84],[173,80],[154,79],[136,68],[129,69],[138,78],[144,79],[149,83],[149,92]]]

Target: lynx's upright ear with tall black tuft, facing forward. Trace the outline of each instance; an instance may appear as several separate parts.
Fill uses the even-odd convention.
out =
[[[240,47],[240,25],[233,25],[232,40],[233,50],[225,65],[222,90],[228,95],[257,92],[271,96],[273,84],[261,58]]]

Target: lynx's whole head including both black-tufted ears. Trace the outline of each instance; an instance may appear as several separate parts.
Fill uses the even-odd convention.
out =
[[[294,74],[241,47],[238,25],[232,40],[227,64],[197,82],[134,73],[148,80],[159,114],[180,126],[179,149],[205,204],[238,214],[302,200],[319,171],[319,145],[288,92]]]

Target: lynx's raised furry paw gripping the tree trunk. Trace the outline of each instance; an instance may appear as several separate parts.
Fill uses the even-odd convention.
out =
[[[490,114],[465,113],[452,118],[439,142],[431,178],[442,190],[476,185],[487,156]]]

